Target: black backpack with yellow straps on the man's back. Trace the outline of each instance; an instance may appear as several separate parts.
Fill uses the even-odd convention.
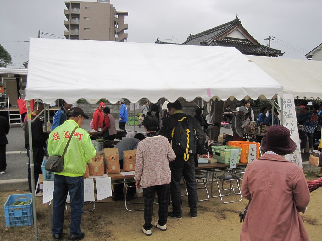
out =
[[[171,131],[170,145],[177,156],[183,156],[187,161],[190,155],[194,156],[197,151],[197,137],[190,116],[177,120]],[[175,117],[174,117],[175,118]]]

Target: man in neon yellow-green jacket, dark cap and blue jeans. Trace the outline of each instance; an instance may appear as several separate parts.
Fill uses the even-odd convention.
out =
[[[81,233],[81,215],[84,204],[84,178],[86,163],[90,163],[96,155],[95,148],[86,130],[81,129],[84,118],[88,119],[79,107],[71,108],[68,120],[56,127],[48,139],[48,153],[50,156],[62,156],[69,138],[71,142],[67,148],[62,172],[54,175],[54,192],[52,195],[52,237],[61,240],[63,235],[64,211],[67,193],[71,197],[71,235],[70,240],[81,240],[85,234]],[[71,136],[73,129],[74,134]]]

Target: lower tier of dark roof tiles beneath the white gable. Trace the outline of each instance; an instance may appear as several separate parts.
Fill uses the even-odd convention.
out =
[[[209,46],[235,47],[243,54],[260,55],[260,56],[279,56],[283,55],[281,50],[272,49],[265,45],[254,45],[246,39],[223,38],[221,40],[212,41]]]

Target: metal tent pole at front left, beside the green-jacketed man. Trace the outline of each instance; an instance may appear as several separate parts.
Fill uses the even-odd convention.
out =
[[[34,103],[36,104],[36,103]],[[30,175],[31,175],[31,190],[33,194],[33,228],[35,232],[35,241],[39,241],[38,238],[38,225],[37,225],[37,210],[36,210],[36,196],[35,196],[35,175],[33,170],[33,139],[31,129],[31,109],[30,101],[27,102],[27,122],[28,122],[28,133],[29,133],[29,160],[30,160]]]

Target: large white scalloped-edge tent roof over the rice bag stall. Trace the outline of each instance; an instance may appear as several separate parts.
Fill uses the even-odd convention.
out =
[[[30,39],[26,100],[135,103],[283,96],[280,84],[235,48]]]

